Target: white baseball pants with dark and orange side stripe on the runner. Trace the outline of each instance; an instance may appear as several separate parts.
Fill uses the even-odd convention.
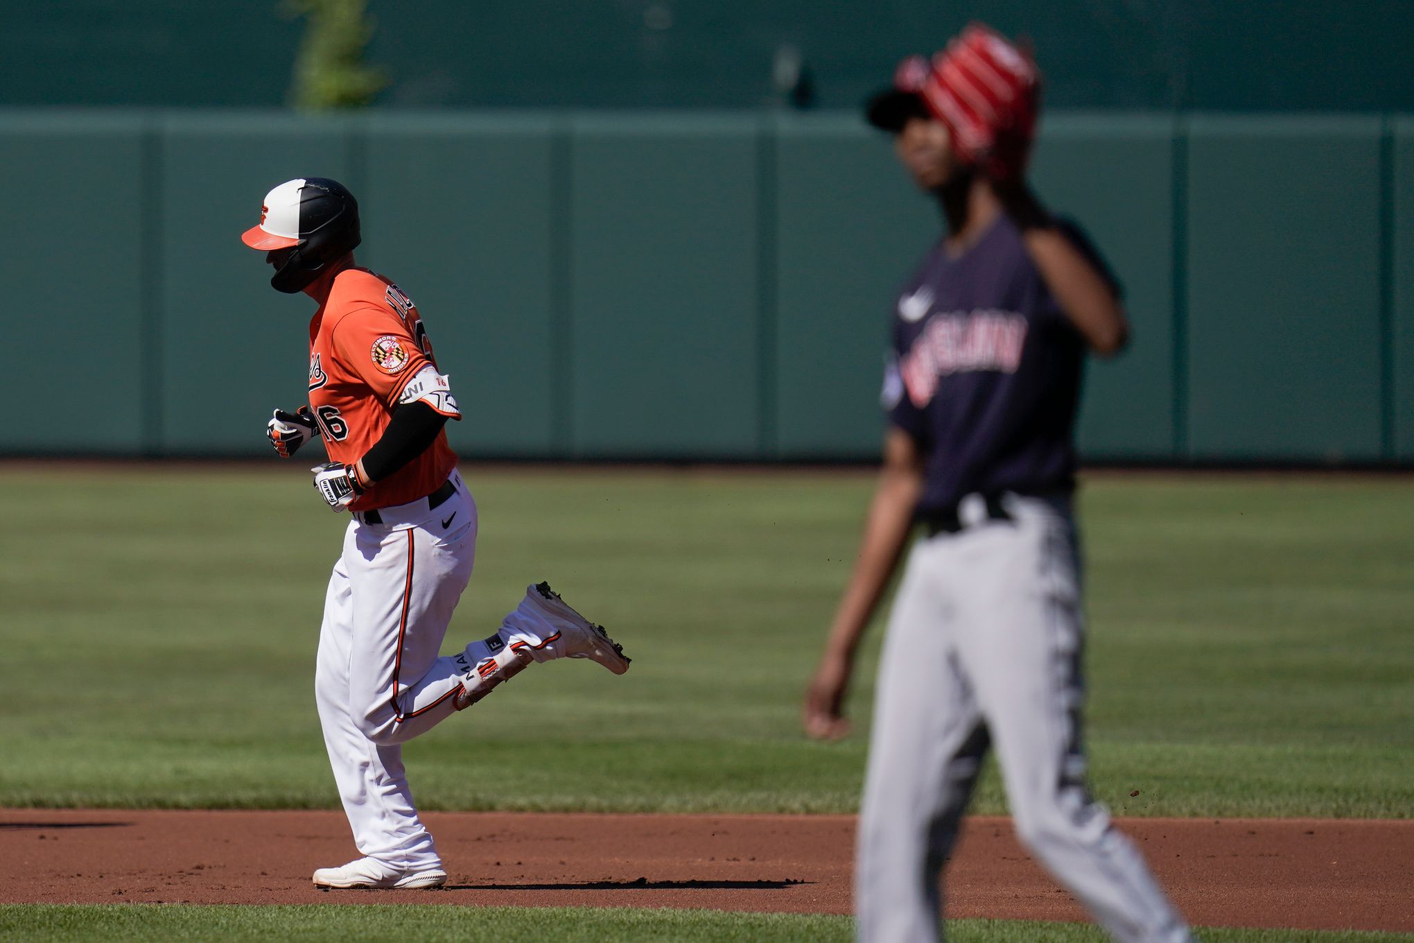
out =
[[[477,554],[477,505],[455,471],[451,481],[436,509],[421,499],[380,509],[382,525],[349,522],[320,629],[315,700],[344,812],[359,853],[399,871],[441,867],[402,744],[452,714],[462,680],[512,642],[556,656],[553,626],[525,604],[491,638],[438,656]]]

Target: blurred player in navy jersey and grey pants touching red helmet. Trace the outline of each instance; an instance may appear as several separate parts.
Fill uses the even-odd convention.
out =
[[[1188,943],[1182,918],[1085,785],[1073,430],[1086,351],[1120,351],[1118,288],[1025,182],[1029,57],[969,27],[905,61],[868,120],[947,233],[895,301],[884,471],[805,705],[847,731],[854,652],[908,554],[880,664],[855,906],[868,943],[939,939],[940,877],[997,749],[1022,841],[1124,943]]]

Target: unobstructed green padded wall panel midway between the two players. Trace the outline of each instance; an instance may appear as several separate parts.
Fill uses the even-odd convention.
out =
[[[575,455],[759,454],[758,137],[747,117],[574,120]]]

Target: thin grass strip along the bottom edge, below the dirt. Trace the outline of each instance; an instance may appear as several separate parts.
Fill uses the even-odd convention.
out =
[[[298,940],[419,943],[848,943],[840,916],[451,906],[0,906],[0,942]],[[1205,943],[1397,943],[1403,933],[1206,929]],[[1104,943],[1093,926],[1019,920],[953,920],[949,943]]]

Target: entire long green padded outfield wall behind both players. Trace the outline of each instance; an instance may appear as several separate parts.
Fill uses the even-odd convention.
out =
[[[847,113],[0,112],[0,165],[7,454],[266,454],[311,308],[238,236],[320,174],[421,308],[464,457],[868,458],[940,228]],[[1414,119],[1055,113],[1034,171],[1135,325],[1087,458],[1414,461]]]

